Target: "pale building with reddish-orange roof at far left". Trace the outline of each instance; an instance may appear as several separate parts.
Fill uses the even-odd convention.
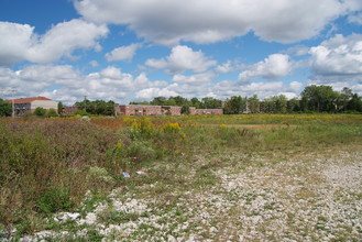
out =
[[[11,99],[6,100],[6,102],[14,103],[15,116],[22,116],[29,111],[33,112],[36,108],[43,108],[47,110],[54,109],[55,111],[58,109],[58,102],[44,97],[20,98],[13,100]]]

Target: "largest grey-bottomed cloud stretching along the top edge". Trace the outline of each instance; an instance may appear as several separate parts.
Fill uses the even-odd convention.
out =
[[[298,42],[361,10],[358,0],[75,0],[75,7],[86,20],[124,24],[165,45],[215,43],[249,31],[266,41]]]

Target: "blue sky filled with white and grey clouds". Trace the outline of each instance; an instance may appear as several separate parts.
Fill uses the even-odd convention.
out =
[[[362,95],[361,0],[1,0],[0,97]]]

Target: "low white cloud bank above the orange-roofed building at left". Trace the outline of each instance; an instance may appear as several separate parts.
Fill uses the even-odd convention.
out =
[[[138,76],[109,66],[100,72],[81,74],[68,65],[30,65],[20,70],[0,67],[0,89],[14,87],[17,97],[46,96],[73,105],[87,96],[90,100],[134,98],[134,92],[147,88],[164,88],[164,81],[150,81],[144,73]],[[11,98],[7,94],[6,99]]]

